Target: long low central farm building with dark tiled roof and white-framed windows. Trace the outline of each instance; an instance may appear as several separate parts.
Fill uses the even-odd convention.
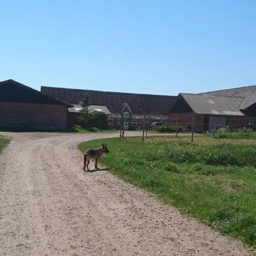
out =
[[[79,105],[87,92],[91,105],[105,106],[110,114],[109,120],[113,127],[120,128],[121,115],[126,119],[125,129],[134,130],[141,128],[144,121],[144,113],[149,122],[168,122],[168,111],[177,96],[163,96],[137,93],[119,93],[97,90],[80,90],[59,87],[41,86],[41,92],[54,98],[68,102],[72,105]],[[69,125],[72,125],[71,118]]]

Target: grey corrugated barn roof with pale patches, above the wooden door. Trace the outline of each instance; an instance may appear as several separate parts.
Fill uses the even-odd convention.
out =
[[[244,97],[209,96],[180,93],[195,113],[225,116],[244,116],[239,110]]]

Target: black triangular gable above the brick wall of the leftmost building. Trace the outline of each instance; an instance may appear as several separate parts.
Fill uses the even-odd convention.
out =
[[[12,79],[0,82],[0,102],[66,105],[71,107],[67,102],[58,100]]]

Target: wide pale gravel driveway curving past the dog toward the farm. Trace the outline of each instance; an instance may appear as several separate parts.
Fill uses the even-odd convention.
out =
[[[0,156],[0,255],[253,255],[107,171],[84,173],[76,145],[118,133],[0,135],[12,137]]]

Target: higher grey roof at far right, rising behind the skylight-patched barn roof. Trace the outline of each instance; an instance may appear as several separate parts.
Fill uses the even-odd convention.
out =
[[[226,90],[218,90],[207,93],[199,93],[199,94],[207,94],[214,96],[233,96],[233,97],[245,97],[244,102],[241,104],[239,109],[245,109],[250,107],[250,105],[256,102],[256,85],[238,87]]]

